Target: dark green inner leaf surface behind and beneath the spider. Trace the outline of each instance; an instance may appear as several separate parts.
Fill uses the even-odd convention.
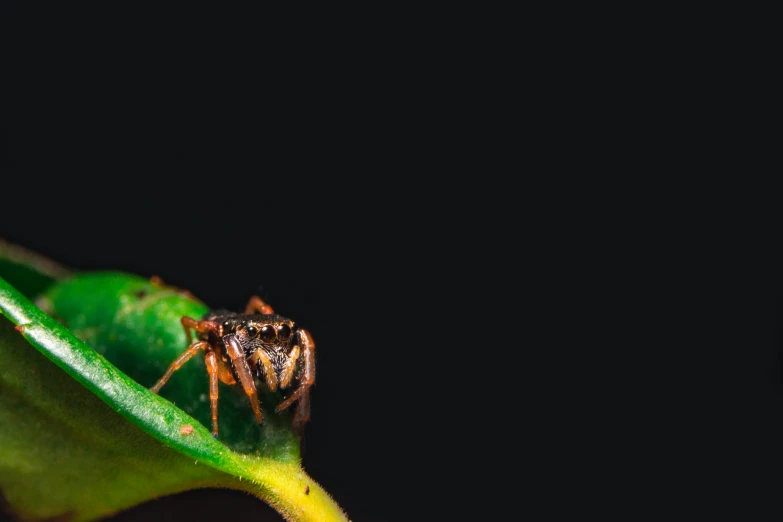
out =
[[[151,387],[188,346],[180,319],[201,318],[209,309],[184,292],[153,285],[121,272],[94,272],[65,279],[37,300],[79,339],[144,387]],[[160,395],[211,427],[209,380],[204,357],[195,356]],[[259,387],[264,424],[256,424],[240,386],[220,387],[220,440],[240,453],[281,462],[299,461],[299,441],[288,412],[274,413],[282,400]]]

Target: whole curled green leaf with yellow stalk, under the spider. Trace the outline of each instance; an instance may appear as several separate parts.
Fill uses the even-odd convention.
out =
[[[203,358],[161,395],[147,389],[186,346],[179,318],[200,317],[203,303],[122,273],[38,287],[48,290],[37,302],[72,331],[0,278],[10,319],[0,318],[0,489],[17,515],[94,520],[162,495],[229,487],[288,520],[346,520],[301,469],[290,417],[273,413],[279,394],[263,395],[259,427],[239,387],[221,386],[216,440]]]

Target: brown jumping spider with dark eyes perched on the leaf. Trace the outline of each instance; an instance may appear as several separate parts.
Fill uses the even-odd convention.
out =
[[[298,400],[293,426],[301,435],[310,419],[310,387],[315,383],[315,343],[307,330],[275,314],[257,296],[250,298],[244,314],[217,310],[207,313],[201,321],[183,317],[181,322],[190,346],[150,388],[153,393],[158,393],[175,371],[199,350],[204,350],[213,436],[218,436],[218,379],[229,385],[239,381],[250,399],[256,420],[259,424],[263,422],[253,373],[271,391],[296,384],[275,411],[281,412]],[[192,342],[191,329],[198,333],[196,342]]]

